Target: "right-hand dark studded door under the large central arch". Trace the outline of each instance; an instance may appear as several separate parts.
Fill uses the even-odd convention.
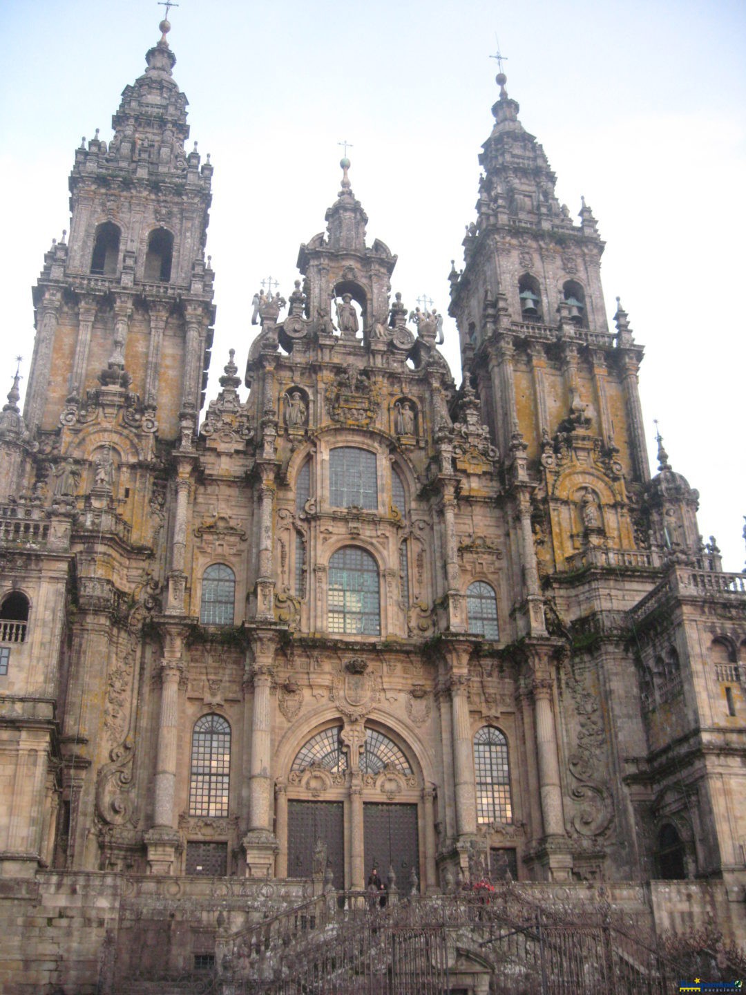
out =
[[[363,805],[365,829],[365,880],[374,864],[384,881],[389,865],[396,873],[396,887],[409,892],[412,869],[420,877],[420,848],[417,841],[417,805]]]

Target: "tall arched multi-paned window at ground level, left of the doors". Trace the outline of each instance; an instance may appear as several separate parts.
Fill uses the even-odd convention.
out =
[[[203,715],[192,732],[189,815],[227,816],[231,726],[222,715]]]

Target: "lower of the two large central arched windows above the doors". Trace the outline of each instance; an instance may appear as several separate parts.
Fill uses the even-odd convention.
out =
[[[378,565],[359,546],[337,549],[329,559],[329,632],[381,635]]]

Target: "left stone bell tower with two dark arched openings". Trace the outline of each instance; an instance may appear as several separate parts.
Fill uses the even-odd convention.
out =
[[[213,167],[200,167],[161,22],[127,86],[114,136],[84,138],[70,176],[70,237],[34,289],[31,432],[91,420],[96,404],[161,439],[196,429],[214,320],[204,248]]]

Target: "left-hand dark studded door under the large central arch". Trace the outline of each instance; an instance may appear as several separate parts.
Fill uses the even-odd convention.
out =
[[[287,802],[287,877],[310,878],[316,840],[326,844],[334,888],[344,888],[342,802]]]

